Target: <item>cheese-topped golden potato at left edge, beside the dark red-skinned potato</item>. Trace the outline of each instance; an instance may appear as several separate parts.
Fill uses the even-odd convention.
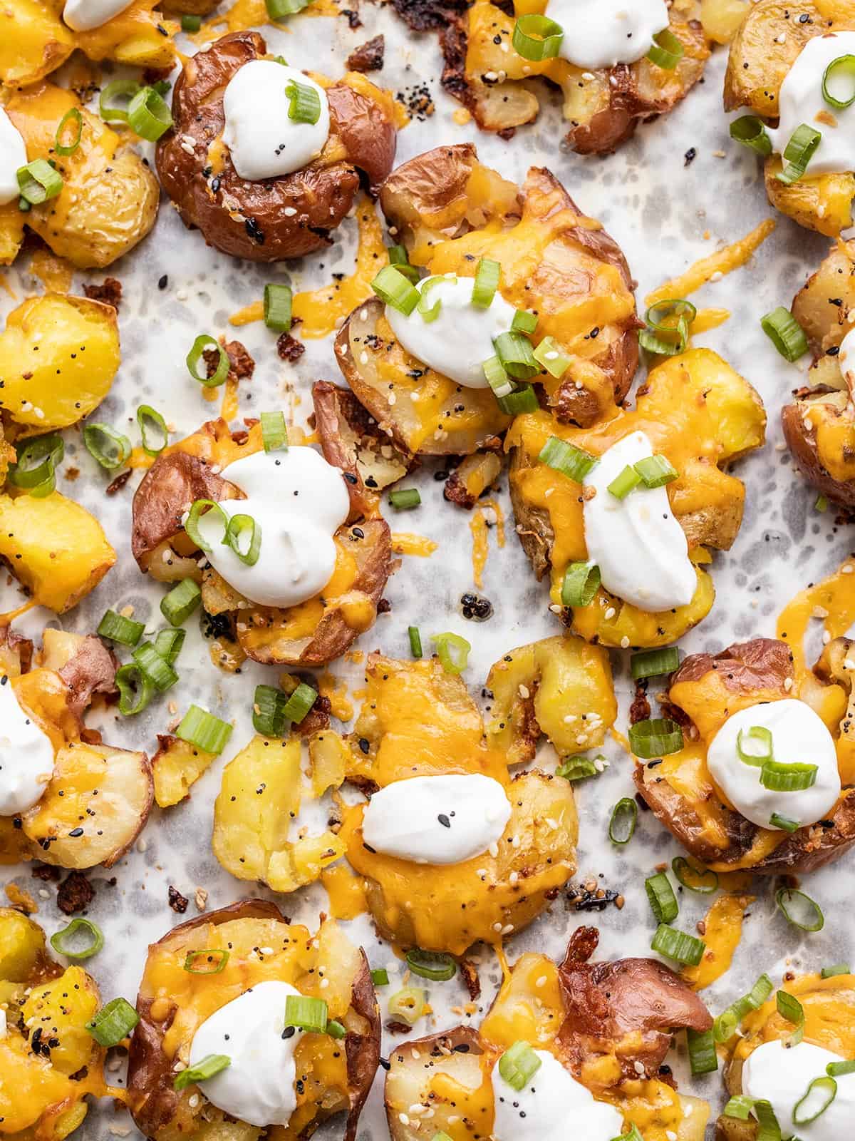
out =
[[[16,90],[5,110],[26,144],[27,159],[51,159],[63,176],[63,188],[26,213],[16,203],[0,208],[0,265],[15,259],[25,226],[79,269],[101,269],[146,236],[157,215],[157,181],[139,155],[74,92],[43,82]],[[56,130],[71,110],[83,118],[80,146],[73,154],[59,155]]]

